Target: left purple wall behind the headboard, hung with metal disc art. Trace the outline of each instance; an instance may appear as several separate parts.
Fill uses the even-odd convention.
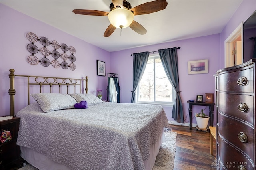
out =
[[[0,115],[10,114],[10,99],[8,94],[9,89],[9,69],[15,69],[15,73],[19,75],[44,75],[44,76],[56,76],[56,77],[73,77],[82,78],[88,76],[89,78],[89,93],[96,95],[97,89],[103,90],[102,99],[106,99],[106,86],[107,76],[96,76],[96,60],[106,62],[106,73],[110,71],[110,53],[103,49],[100,49],[90,43],[84,42],[79,38],[71,36],[65,32],[62,32],[48,24],[35,20],[29,16],[26,16],[8,6],[1,4],[1,51],[0,51]],[[30,55],[26,46],[30,43],[26,34],[28,32],[35,33],[38,38],[45,36],[50,40],[56,40],[57,42],[65,43],[66,45],[73,46],[76,49],[74,54],[76,57],[76,70],[71,71],[68,69],[62,69],[59,67],[55,69],[51,65],[43,67],[40,65],[30,65],[26,58]],[[41,59],[42,55],[36,55]],[[50,57],[49,57],[50,58]],[[19,91],[18,85],[16,85],[16,91]],[[23,96],[26,96],[24,94]],[[18,100],[16,96],[17,105],[15,112],[22,109],[26,104],[23,100]],[[26,99],[26,98],[25,98]]]

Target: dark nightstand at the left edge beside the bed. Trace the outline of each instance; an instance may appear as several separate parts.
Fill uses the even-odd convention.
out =
[[[10,130],[12,140],[0,144],[1,150],[1,170],[7,170],[10,167],[20,165],[20,146],[16,145],[19,131],[20,118],[14,117],[12,119],[0,121],[0,129]]]

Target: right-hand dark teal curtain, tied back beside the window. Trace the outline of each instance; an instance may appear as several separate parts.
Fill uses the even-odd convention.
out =
[[[176,97],[172,108],[172,118],[179,123],[184,123],[183,107],[180,97],[179,73],[178,73],[178,55],[177,47],[158,50],[162,61],[164,71],[176,91]]]

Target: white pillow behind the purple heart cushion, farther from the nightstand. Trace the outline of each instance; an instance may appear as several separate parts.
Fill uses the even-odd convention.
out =
[[[70,96],[74,97],[74,99],[76,99],[76,101],[78,103],[80,103],[80,101],[87,101],[88,106],[90,105],[95,105],[98,103],[103,103],[102,100],[100,100],[98,97],[96,97],[95,95],[92,94],[80,94],[80,93],[74,93],[74,94],[69,94]]]

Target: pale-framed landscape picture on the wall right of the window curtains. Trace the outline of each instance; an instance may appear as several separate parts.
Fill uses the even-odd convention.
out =
[[[188,61],[188,74],[208,73],[208,59]]]

